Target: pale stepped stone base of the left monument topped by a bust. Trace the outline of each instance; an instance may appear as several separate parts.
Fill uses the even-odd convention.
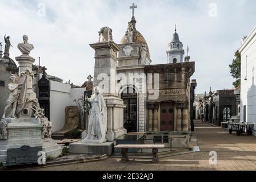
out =
[[[8,137],[0,140],[0,162],[7,159],[7,150],[10,148],[21,148],[22,146],[42,147],[46,156],[54,158],[62,154],[62,148],[51,138],[42,139],[42,124],[36,118],[6,118]],[[38,156],[39,158],[39,156]]]

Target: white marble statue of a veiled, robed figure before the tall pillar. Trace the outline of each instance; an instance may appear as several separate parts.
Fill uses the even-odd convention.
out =
[[[107,133],[107,106],[99,87],[94,88],[94,94],[91,96],[91,111],[88,124],[87,137],[82,143],[103,143],[106,142]]]

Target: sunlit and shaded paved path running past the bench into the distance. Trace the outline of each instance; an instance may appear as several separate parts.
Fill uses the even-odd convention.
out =
[[[256,170],[256,137],[230,135],[226,129],[201,121],[195,122],[195,130],[200,152],[161,158],[157,164],[143,160],[120,163],[119,159],[109,158],[40,170]],[[217,152],[217,164],[209,164],[210,151]]]

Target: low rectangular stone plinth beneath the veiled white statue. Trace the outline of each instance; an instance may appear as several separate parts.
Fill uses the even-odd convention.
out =
[[[81,143],[75,142],[69,144],[69,152],[74,154],[98,154],[111,155],[114,150],[114,142],[105,143]]]

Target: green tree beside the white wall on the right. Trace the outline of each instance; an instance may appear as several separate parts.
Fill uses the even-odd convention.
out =
[[[233,59],[229,67],[231,76],[235,78],[233,85],[237,87],[241,84],[241,54],[239,51],[235,52],[235,59]]]

